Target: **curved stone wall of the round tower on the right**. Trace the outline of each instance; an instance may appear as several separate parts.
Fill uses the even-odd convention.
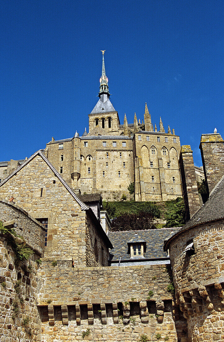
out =
[[[190,341],[224,340],[223,229],[224,220],[199,225],[170,243],[176,303],[187,319]],[[184,252],[191,240],[195,254]]]

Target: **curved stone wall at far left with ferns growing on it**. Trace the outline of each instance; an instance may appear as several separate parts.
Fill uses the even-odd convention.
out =
[[[24,210],[3,201],[0,201],[0,220],[17,222],[16,233],[36,251],[29,260],[19,261],[15,259],[10,239],[0,235],[0,341],[40,342],[41,320],[36,306],[38,264],[35,260],[44,250],[45,230]]]

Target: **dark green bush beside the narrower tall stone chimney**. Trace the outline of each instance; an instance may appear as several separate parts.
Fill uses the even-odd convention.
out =
[[[177,197],[175,200],[166,201],[165,219],[166,227],[182,227],[184,225],[184,200]]]

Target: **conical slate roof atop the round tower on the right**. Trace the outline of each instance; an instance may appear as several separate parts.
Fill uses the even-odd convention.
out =
[[[192,216],[192,218],[180,228],[169,240],[164,244],[164,249],[169,248],[171,239],[179,235],[186,229],[192,228],[199,224],[216,221],[224,218],[224,176],[214,187],[205,204]]]

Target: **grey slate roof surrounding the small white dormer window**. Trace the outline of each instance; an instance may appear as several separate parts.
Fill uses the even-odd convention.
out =
[[[114,246],[114,249],[110,251],[109,261],[117,262],[121,257],[121,261],[133,262],[133,259],[130,259],[130,254],[128,254],[128,242],[130,239],[135,239],[136,236],[146,241],[145,259],[169,259],[167,252],[163,251],[164,240],[178,230],[179,228],[162,228],[145,231],[108,232],[108,238]]]

